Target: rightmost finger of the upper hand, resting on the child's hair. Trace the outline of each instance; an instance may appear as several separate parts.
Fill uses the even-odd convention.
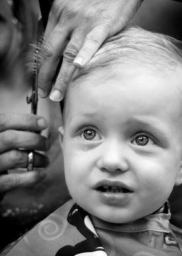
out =
[[[84,44],[77,57],[73,61],[75,67],[84,66],[98,50],[103,41],[109,36],[109,26],[98,25],[93,28],[86,36]]]

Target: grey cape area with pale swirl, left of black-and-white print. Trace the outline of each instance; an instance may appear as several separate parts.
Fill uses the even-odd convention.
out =
[[[13,248],[10,246],[2,255],[55,255],[63,245],[64,233],[69,229],[66,219],[73,204],[73,200],[69,200],[61,205],[56,211],[27,232],[16,244],[13,244]],[[7,251],[9,252],[7,253]]]

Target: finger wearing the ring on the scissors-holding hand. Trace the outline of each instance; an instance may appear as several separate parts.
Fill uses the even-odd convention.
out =
[[[0,155],[0,172],[12,168],[27,168],[28,153],[22,150],[10,150]],[[34,152],[34,167],[43,168],[49,164],[49,158]]]

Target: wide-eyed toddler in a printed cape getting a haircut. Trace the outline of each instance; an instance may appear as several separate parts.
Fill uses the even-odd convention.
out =
[[[180,47],[128,26],[75,72],[59,129],[73,199],[8,255],[182,255],[167,204],[182,183]]]

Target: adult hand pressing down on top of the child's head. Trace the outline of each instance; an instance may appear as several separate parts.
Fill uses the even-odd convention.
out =
[[[103,41],[126,26],[143,0],[54,0],[40,63],[40,96],[63,99],[75,67],[85,65]],[[65,49],[66,47],[66,49]],[[74,67],[75,66],[75,67]]]

